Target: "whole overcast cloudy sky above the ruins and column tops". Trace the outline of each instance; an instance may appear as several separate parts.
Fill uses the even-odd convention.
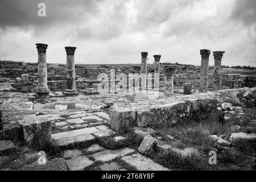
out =
[[[46,17],[38,4],[46,4]],[[256,0],[0,0],[0,59],[82,64],[161,61],[200,65],[200,49],[226,51],[222,65],[256,66]],[[214,64],[213,54],[210,65]]]

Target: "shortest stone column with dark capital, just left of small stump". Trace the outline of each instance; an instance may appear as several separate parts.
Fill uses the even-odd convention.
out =
[[[167,97],[174,94],[174,71],[175,67],[173,65],[164,66],[164,95]]]

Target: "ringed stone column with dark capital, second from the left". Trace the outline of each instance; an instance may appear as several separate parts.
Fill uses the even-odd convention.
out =
[[[76,72],[75,72],[75,60],[74,55],[76,47],[65,47],[67,52],[67,89],[64,94],[76,96],[78,94],[76,90]]]

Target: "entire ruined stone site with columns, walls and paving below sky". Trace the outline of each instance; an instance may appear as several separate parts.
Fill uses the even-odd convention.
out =
[[[256,69],[226,68],[225,51],[195,52],[199,66],[148,52],[83,65],[79,47],[63,64],[49,49],[0,61],[1,171],[256,169]]]

